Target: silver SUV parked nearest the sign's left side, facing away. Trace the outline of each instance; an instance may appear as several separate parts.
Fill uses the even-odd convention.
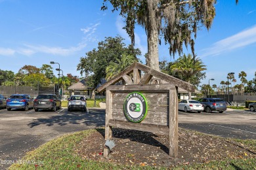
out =
[[[87,103],[85,96],[83,95],[72,95],[68,99],[68,111],[72,109],[80,109],[82,111],[86,111]]]

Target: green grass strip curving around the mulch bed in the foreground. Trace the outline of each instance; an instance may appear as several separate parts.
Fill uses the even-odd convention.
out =
[[[10,169],[156,169],[156,167],[116,165],[112,163],[91,161],[81,158],[75,150],[79,149],[79,143],[96,129],[79,131],[69,135],[58,137],[41,145],[39,148],[28,152],[21,162],[12,164]],[[237,140],[241,144],[256,148],[256,140]],[[226,159],[222,161],[209,161],[192,165],[177,165],[172,169],[255,169],[255,158]],[[158,167],[157,169],[168,169]]]

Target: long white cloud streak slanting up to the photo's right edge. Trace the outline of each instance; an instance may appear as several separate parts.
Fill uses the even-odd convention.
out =
[[[236,50],[254,44],[256,42],[256,25],[249,29],[245,29],[236,35],[232,35],[226,39],[215,42],[210,48],[202,50],[200,57],[217,56],[223,52]]]

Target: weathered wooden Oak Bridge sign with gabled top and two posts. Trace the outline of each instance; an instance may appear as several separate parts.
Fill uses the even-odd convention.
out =
[[[125,85],[113,85],[119,81],[125,82]],[[169,135],[169,156],[176,158],[178,156],[178,87],[189,92],[194,91],[192,84],[140,63],[133,63],[100,86],[98,92],[106,90],[105,139],[112,139],[112,127]],[[129,101],[134,97],[136,102]],[[131,115],[127,112],[131,112]],[[133,113],[142,116],[133,118]]]

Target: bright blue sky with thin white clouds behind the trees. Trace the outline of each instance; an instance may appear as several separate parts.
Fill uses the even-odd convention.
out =
[[[0,69],[17,73],[24,65],[41,67],[50,61],[60,63],[64,75],[81,76],[77,71],[79,59],[97,48],[104,37],[121,35],[130,39],[123,29],[118,12],[102,11],[103,0],[34,1],[0,0]],[[216,17],[211,29],[198,31],[195,52],[207,65],[205,80],[220,86],[230,72],[245,71],[247,80],[255,76],[256,61],[256,1],[218,0]],[[135,44],[145,61],[146,34],[137,26]],[[184,53],[190,50],[184,49]],[[175,56],[177,59],[178,56]],[[160,46],[160,61],[174,61],[168,46]],[[54,69],[58,65],[52,65]],[[54,71],[57,75],[57,71]]]

